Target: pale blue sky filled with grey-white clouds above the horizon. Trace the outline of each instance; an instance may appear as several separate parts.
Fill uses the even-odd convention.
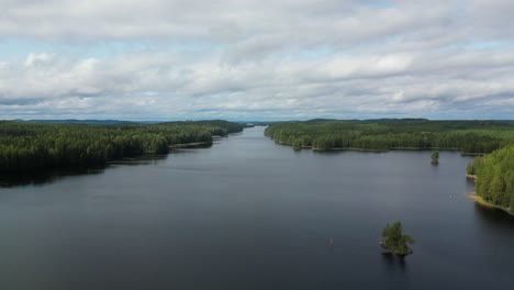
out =
[[[0,120],[514,119],[512,0],[0,7]]]

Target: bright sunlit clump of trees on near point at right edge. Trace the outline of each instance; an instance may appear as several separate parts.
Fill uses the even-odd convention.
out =
[[[514,144],[477,157],[467,171],[477,177],[474,190],[480,198],[514,213]]]

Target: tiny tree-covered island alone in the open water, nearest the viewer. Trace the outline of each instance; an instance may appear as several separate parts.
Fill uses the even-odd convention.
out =
[[[409,245],[414,244],[414,239],[403,234],[401,222],[395,222],[392,225],[389,223],[386,225],[379,244],[387,249],[388,254],[406,256],[413,253]]]

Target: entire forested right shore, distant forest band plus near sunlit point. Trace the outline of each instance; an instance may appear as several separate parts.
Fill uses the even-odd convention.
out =
[[[455,149],[484,155],[467,167],[467,176],[476,179],[476,194],[482,203],[514,214],[512,121],[311,120],[276,123],[265,135],[294,149]]]

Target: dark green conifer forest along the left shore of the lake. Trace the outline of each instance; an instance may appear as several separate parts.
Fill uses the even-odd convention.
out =
[[[35,171],[101,166],[143,154],[167,154],[181,143],[212,142],[213,135],[241,132],[226,121],[158,124],[51,124],[0,122],[0,171]]]

